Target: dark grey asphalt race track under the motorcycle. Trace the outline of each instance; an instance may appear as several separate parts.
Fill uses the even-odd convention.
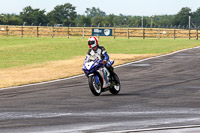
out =
[[[0,133],[141,132],[200,125],[200,47],[115,72],[119,95],[93,96],[84,76],[0,89]]]

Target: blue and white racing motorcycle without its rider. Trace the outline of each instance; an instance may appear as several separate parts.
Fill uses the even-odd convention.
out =
[[[110,60],[107,63],[113,65],[114,61]],[[82,70],[88,77],[89,87],[93,95],[99,96],[102,92],[108,90],[114,95],[120,92],[119,77],[114,72],[111,74],[103,65],[102,60],[97,58],[90,62],[84,62]]]

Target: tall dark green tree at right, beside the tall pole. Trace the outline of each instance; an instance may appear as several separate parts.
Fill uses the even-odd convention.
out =
[[[174,18],[174,24],[175,25],[188,25],[188,19],[191,15],[191,9],[188,7],[183,7],[181,11],[176,14]]]

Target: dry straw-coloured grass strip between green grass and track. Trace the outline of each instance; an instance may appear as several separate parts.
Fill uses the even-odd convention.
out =
[[[110,59],[115,60],[114,65],[119,65],[151,56],[155,56],[155,54],[110,54]],[[1,69],[0,88],[49,81],[82,74],[84,59],[85,56],[81,56],[71,60],[52,61],[24,67]]]

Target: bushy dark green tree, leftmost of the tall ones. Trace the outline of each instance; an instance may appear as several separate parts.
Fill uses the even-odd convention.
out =
[[[45,10],[33,9],[31,6],[27,6],[20,12],[20,18],[29,25],[32,23],[35,25],[46,24],[48,19],[45,12]]]

